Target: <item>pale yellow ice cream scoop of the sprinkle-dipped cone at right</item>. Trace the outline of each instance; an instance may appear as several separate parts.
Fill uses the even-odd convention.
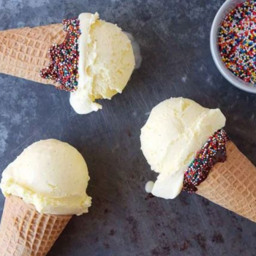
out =
[[[143,154],[159,173],[153,195],[171,199],[181,192],[196,152],[225,120],[219,109],[203,108],[191,99],[171,98],[153,108],[140,135]]]

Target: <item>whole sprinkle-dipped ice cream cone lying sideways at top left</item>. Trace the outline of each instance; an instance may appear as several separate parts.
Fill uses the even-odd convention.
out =
[[[97,12],[0,31],[0,72],[74,92],[69,102],[79,114],[102,109],[95,100],[121,93],[134,67],[127,34]]]

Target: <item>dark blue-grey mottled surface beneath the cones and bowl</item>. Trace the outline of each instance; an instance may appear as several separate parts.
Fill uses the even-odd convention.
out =
[[[143,56],[124,93],[87,116],[72,110],[64,91],[0,75],[0,170],[46,138],[77,147],[89,165],[90,212],[72,218],[49,256],[256,255],[256,224],[249,220],[197,195],[145,200],[154,173],[140,151],[140,128],[169,97],[221,108],[227,132],[256,164],[256,96],[231,86],[211,58],[209,32],[222,2],[0,0],[0,29],[97,11],[131,32]]]

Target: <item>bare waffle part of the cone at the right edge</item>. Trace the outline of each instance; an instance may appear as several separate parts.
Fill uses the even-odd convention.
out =
[[[256,167],[234,143],[227,143],[227,160],[214,165],[197,194],[256,222]]]

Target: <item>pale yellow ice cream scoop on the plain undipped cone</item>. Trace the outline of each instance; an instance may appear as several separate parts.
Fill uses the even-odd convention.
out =
[[[82,155],[68,143],[40,140],[26,148],[2,173],[4,196],[15,195],[42,214],[83,214],[89,173]]]

